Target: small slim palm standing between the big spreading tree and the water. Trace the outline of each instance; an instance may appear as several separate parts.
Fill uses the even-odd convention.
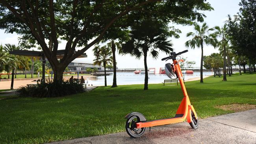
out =
[[[107,86],[107,75],[106,75],[106,65],[111,65],[113,63],[113,56],[111,48],[108,46],[95,46],[93,49],[93,54],[95,55],[94,65],[104,66],[104,76],[105,76],[105,87]]]

